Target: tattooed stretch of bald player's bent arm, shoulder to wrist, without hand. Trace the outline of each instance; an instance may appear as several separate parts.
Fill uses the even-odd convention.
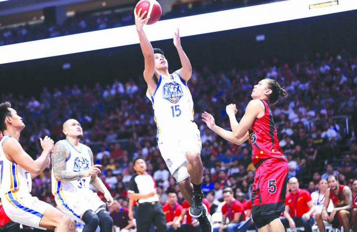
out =
[[[66,171],[67,146],[62,143],[54,145],[51,155],[52,169],[56,179],[63,181],[74,181],[83,177],[83,172]]]

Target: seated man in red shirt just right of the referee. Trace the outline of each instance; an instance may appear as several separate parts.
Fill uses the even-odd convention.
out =
[[[171,191],[167,195],[167,203],[163,205],[163,211],[166,216],[167,229],[172,229],[173,224],[177,224],[177,219],[180,218],[182,205],[177,202],[176,192]],[[178,221],[178,225],[180,225],[180,221]]]

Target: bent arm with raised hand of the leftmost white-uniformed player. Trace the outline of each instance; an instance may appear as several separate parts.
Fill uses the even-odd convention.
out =
[[[20,167],[31,173],[31,177],[36,177],[49,164],[49,154],[53,148],[53,140],[49,137],[41,139],[44,151],[35,161],[26,153],[17,140],[14,138],[7,139],[3,144],[4,152]]]

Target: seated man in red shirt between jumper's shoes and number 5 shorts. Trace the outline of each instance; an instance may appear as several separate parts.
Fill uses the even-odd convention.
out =
[[[224,231],[226,229],[228,232],[235,231],[234,229],[240,225],[240,222],[245,220],[244,206],[238,200],[233,200],[233,190],[232,188],[223,189],[223,200],[225,201],[222,206],[222,222],[220,227],[213,228],[213,232]],[[226,224],[228,218],[229,223]]]

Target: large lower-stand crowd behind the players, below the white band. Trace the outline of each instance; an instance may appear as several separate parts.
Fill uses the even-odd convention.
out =
[[[264,78],[276,79],[290,94],[271,106],[280,145],[289,162],[289,178],[299,179],[300,187],[310,193],[332,173],[338,175],[341,184],[351,188],[356,178],[355,56],[342,50],[336,55],[305,57],[295,64],[262,61],[254,69],[232,68],[219,73],[204,67],[193,71],[188,85],[195,104],[194,121],[201,130],[203,192],[211,212],[222,202],[224,187],[232,189],[235,199],[249,201],[255,168],[249,143],[241,146],[228,143],[207,128],[201,113],[210,112],[217,125],[229,128],[226,105],[237,105],[240,120],[253,85]],[[153,110],[145,92],[146,85],[140,76],[126,83],[120,79],[104,86],[97,83],[93,88],[45,87],[41,95],[30,98],[3,92],[1,100],[10,101],[23,117],[26,128],[20,142],[33,158],[41,153],[38,138],[48,135],[55,142],[64,139],[62,123],[74,118],[84,129],[82,142],[92,148],[95,163],[103,166],[103,182],[120,205],[128,205],[127,188],[134,174],[135,157],[146,160],[163,205],[167,192],[176,192],[177,201],[183,203],[177,183],[157,148]],[[50,168],[46,169],[33,180],[32,195],[55,204],[50,172]]]

